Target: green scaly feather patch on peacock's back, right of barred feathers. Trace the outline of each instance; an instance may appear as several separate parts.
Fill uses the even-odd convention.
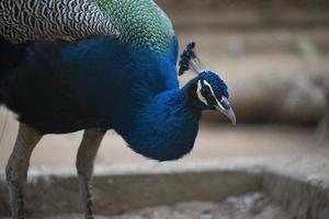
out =
[[[120,39],[157,50],[168,48],[173,30],[152,0],[95,0],[120,33]]]

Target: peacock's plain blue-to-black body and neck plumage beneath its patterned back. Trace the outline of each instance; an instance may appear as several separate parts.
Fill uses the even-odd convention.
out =
[[[193,83],[179,89],[175,37],[163,53],[136,50],[109,36],[27,50],[14,80],[3,87],[20,100],[10,108],[22,123],[42,134],[114,128],[133,150],[159,161],[179,159],[193,148],[201,110],[189,102]],[[26,104],[41,113],[26,113]]]

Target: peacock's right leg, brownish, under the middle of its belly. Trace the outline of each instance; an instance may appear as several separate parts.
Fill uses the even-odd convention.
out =
[[[77,171],[86,219],[93,218],[91,197],[93,163],[105,132],[106,130],[104,129],[87,129],[83,134],[77,155]]]

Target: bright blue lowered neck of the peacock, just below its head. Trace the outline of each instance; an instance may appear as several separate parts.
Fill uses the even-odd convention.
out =
[[[177,160],[192,150],[200,116],[201,111],[189,103],[185,87],[157,94],[132,122],[115,130],[139,154],[158,161]]]

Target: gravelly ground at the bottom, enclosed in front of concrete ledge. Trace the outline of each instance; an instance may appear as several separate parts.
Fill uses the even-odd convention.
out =
[[[81,215],[64,215],[42,219],[78,219]],[[291,219],[282,208],[271,204],[262,193],[229,197],[222,203],[190,201],[175,206],[159,206],[121,216],[95,219]],[[8,218],[2,218],[8,219]]]

